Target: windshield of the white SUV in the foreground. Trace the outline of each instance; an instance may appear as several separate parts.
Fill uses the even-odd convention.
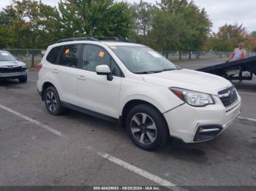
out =
[[[135,74],[151,74],[178,69],[158,52],[149,47],[110,47],[118,58]]]

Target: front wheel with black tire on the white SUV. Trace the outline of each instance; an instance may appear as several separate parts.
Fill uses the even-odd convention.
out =
[[[135,118],[137,118],[137,120]],[[143,122],[143,119],[146,120]],[[138,123],[141,124],[138,125]],[[130,138],[135,145],[141,149],[159,149],[164,147],[167,140],[170,138],[163,115],[153,106],[147,104],[135,106],[129,111],[126,126]],[[144,135],[142,138],[143,133]]]

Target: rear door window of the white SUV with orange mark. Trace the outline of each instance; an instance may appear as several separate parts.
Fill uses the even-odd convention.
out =
[[[61,54],[59,56],[58,64],[61,66],[78,68],[80,50],[81,50],[80,44],[71,44],[71,45],[63,46],[61,49]]]

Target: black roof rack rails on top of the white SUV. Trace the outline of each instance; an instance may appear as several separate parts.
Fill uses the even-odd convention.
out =
[[[60,42],[70,42],[70,41],[116,41],[116,42],[131,42],[128,38],[119,38],[119,37],[105,37],[105,36],[88,36],[88,37],[78,37],[78,38],[69,38],[69,39],[59,39],[57,43]]]

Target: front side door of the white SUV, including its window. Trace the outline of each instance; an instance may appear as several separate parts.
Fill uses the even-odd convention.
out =
[[[108,65],[113,80],[98,75],[96,66]],[[118,102],[122,74],[110,54],[102,47],[86,44],[83,47],[81,69],[78,74],[78,102],[84,109],[118,118]]]

